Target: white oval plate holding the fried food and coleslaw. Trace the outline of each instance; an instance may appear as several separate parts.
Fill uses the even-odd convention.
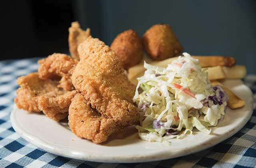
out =
[[[43,114],[28,113],[16,107],[11,114],[14,130],[28,142],[47,152],[69,158],[94,162],[149,162],[176,158],[210,148],[240,130],[252,115],[252,93],[240,80],[224,81],[246,105],[237,110],[227,109],[224,120],[212,128],[212,133],[195,132],[182,140],[173,139],[167,146],[140,140],[134,128],[112,135],[104,144],[76,137],[66,122],[54,122]],[[126,136],[126,137],[125,137]]]

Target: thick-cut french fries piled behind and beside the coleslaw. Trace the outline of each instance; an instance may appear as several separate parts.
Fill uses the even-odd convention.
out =
[[[239,66],[239,65],[233,66],[236,63],[236,60],[232,57],[223,57],[223,56],[192,56],[192,57],[199,60],[203,69],[207,67],[206,72],[208,72],[208,78],[211,80],[212,85],[213,86],[220,85],[227,92],[229,97],[228,107],[240,108],[244,106],[245,104],[244,100],[236,96],[236,94],[234,94],[231,90],[229,90],[226,86],[222,85],[217,80],[224,79],[224,78],[244,78],[244,76],[246,76],[245,66]],[[150,61],[151,65],[166,68],[168,64],[170,64],[175,59],[177,59],[177,57],[168,58],[163,61],[150,61],[150,60],[148,61]],[[137,78],[139,78],[140,76],[143,76],[145,70],[146,69],[143,67],[143,64],[139,64],[131,67],[128,70],[129,80],[133,84],[137,85],[138,84]]]

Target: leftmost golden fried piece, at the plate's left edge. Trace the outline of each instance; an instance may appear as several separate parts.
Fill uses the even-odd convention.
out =
[[[20,88],[17,90],[17,97],[14,99],[16,106],[30,112],[40,112],[38,109],[38,96],[48,92],[58,92],[58,81],[42,80],[38,73],[31,73],[18,78]]]

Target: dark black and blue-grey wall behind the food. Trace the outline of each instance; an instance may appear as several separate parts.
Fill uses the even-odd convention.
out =
[[[8,1],[1,11],[3,59],[68,53],[68,27],[83,28],[110,45],[132,28],[141,36],[168,23],[184,51],[193,55],[234,56],[256,74],[256,1],[254,0],[44,0]]]

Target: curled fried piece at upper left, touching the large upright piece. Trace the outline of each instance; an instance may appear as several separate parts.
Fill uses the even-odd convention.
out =
[[[54,53],[38,61],[38,64],[40,64],[38,69],[39,78],[54,80],[56,76],[60,76],[61,80],[58,87],[66,91],[74,90],[71,75],[77,63],[77,60],[66,54]]]

